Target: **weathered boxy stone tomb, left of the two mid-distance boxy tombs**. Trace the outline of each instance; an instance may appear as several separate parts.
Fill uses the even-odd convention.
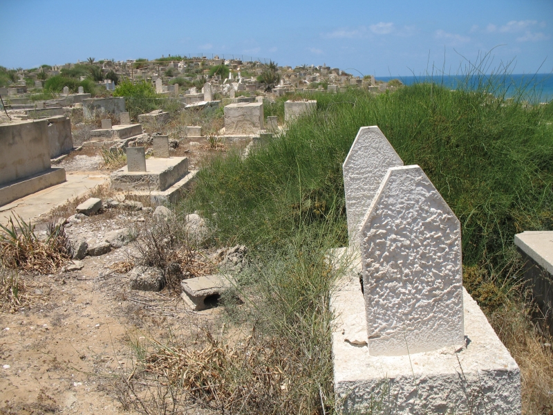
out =
[[[263,129],[263,103],[229,104],[225,107],[225,134],[254,134]]]

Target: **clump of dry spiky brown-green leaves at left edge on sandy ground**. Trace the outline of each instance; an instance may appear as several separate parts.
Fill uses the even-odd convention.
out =
[[[14,223],[15,219],[15,223]],[[21,216],[0,224],[0,263],[10,269],[54,273],[70,259],[70,248],[63,225],[48,226],[45,239],[35,234],[35,225]]]

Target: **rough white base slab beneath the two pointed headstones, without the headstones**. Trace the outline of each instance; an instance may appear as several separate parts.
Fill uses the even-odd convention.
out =
[[[372,407],[393,414],[521,414],[518,366],[465,288],[466,347],[369,356],[360,259],[346,248],[332,252],[335,267],[349,269],[330,299],[336,316],[332,356],[340,413],[371,413]]]

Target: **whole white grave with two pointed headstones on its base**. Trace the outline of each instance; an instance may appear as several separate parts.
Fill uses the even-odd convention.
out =
[[[520,371],[462,287],[460,223],[426,174],[362,127],[344,189],[350,246],[330,252],[343,271],[330,299],[337,409],[521,414]]]

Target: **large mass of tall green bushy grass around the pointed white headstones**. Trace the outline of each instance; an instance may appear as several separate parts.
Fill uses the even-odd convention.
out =
[[[246,308],[244,321],[291,350],[319,350],[304,353],[297,367],[330,360],[330,317],[320,304],[327,304],[335,275],[317,264],[326,249],[348,243],[341,165],[359,127],[378,125],[404,164],[420,165],[456,213],[465,286],[485,312],[520,293],[514,234],[553,229],[553,104],[532,106],[521,95],[492,98],[484,87],[449,91],[418,84],[381,95],[357,89],[311,94],[317,111],[285,134],[245,159],[232,152],[212,158],[198,172],[181,208],[200,211],[221,245],[250,248],[257,266],[241,289],[259,302]],[[268,105],[265,115],[280,115],[285,99]],[[324,405],[331,404],[331,371],[298,370],[297,376],[295,387],[312,385],[303,391],[310,398],[288,411],[320,412],[313,398],[317,382]],[[279,408],[272,407],[285,413]]]

